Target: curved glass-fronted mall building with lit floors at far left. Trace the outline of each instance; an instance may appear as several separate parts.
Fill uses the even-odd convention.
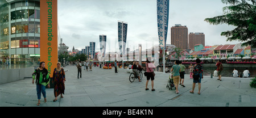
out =
[[[0,0],[0,57],[40,57],[40,0]]]

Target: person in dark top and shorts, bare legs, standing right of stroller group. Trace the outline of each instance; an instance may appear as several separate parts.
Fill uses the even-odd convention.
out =
[[[201,90],[201,79],[204,78],[203,76],[203,66],[200,64],[201,60],[199,58],[196,59],[196,66],[193,69],[193,86],[192,86],[192,90],[189,91],[192,94],[194,93],[195,87],[196,87],[196,83],[198,83],[198,94],[200,95],[200,90]]]

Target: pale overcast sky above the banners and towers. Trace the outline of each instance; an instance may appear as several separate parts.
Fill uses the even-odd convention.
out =
[[[212,25],[205,18],[223,14],[227,6],[221,0],[170,0],[167,44],[171,44],[171,27],[181,24],[189,32],[203,32],[205,45],[237,44],[226,41],[221,32],[230,31],[228,24]],[[89,42],[96,42],[100,50],[99,35],[107,36],[108,50],[118,49],[118,21],[128,23],[127,42],[137,48],[144,41],[158,41],[156,0],[59,0],[58,24],[60,37],[69,50],[85,49]],[[111,45],[116,42],[116,45]],[[143,49],[143,48],[142,48]]]

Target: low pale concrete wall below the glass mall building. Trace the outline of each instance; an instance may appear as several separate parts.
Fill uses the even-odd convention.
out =
[[[0,85],[9,82],[20,81],[26,77],[32,77],[32,73],[34,73],[34,67],[0,70]]]

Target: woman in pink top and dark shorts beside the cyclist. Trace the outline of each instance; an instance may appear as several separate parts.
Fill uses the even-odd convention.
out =
[[[154,72],[154,70],[152,68],[148,68],[148,64],[151,63],[151,57],[147,57],[147,62],[146,62],[146,73],[147,73],[147,82],[146,82],[146,90],[149,90],[147,88],[147,84],[148,84],[148,81],[150,80],[151,78],[151,86],[152,86],[152,91],[155,91],[154,89],[154,75],[152,74],[152,72]]]

